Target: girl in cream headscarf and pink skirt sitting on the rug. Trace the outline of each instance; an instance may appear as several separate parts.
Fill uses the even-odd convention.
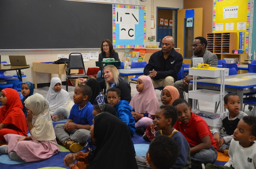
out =
[[[27,108],[27,126],[31,136],[6,134],[7,145],[0,147],[0,152],[9,154],[13,160],[23,159],[26,162],[48,159],[59,152],[49,103],[41,94],[35,93],[25,100]]]

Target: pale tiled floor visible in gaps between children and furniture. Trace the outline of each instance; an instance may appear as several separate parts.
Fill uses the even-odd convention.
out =
[[[34,93],[38,92],[38,93],[42,94],[44,97],[46,97],[47,92],[48,92],[48,88],[49,87],[37,88],[37,89],[34,90]],[[70,95],[71,99],[73,98],[74,88],[75,87],[73,87],[73,86],[69,86],[69,95]],[[65,86],[63,86],[63,89],[65,89]],[[137,93],[135,83],[131,83],[131,90],[132,90],[131,94],[132,94],[132,97],[133,97]],[[162,102],[160,100],[161,91],[155,90],[155,94],[158,97],[159,104],[162,105]],[[186,98],[188,98],[187,93],[186,93]],[[215,107],[214,102],[204,102],[202,100],[199,101],[200,110],[207,111],[207,112],[214,112],[214,107]],[[217,113],[219,113],[219,109],[218,109]],[[247,113],[248,115],[251,114],[251,111],[248,110],[248,106],[245,107],[245,113]]]

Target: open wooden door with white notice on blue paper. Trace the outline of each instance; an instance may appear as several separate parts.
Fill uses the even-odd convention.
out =
[[[192,19],[191,19],[192,18]],[[195,37],[203,35],[203,8],[178,10],[177,14],[177,48],[184,57],[184,63],[190,64],[192,42]]]

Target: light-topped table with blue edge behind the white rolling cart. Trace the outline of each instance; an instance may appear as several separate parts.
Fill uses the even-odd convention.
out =
[[[237,82],[229,79],[237,78]],[[235,80],[235,79],[234,79]],[[214,79],[199,79],[197,87],[210,90],[220,90],[220,78]],[[243,103],[243,90],[249,87],[256,87],[256,73],[243,73],[225,77],[225,91],[235,92],[240,97],[241,104]],[[240,110],[243,109],[241,106]]]

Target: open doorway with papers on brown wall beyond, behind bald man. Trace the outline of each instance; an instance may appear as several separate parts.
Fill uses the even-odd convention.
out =
[[[176,42],[177,8],[157,7],[156,41],[160,42],[165,36],[172,36]],[[175,43],[176,44],[176,43]]]

